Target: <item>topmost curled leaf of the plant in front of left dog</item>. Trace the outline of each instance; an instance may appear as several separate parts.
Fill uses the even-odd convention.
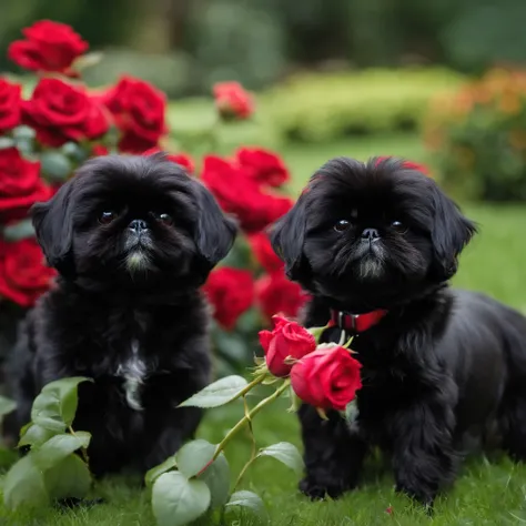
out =
[[[73,423],[78,404],[77,390],[82,382],[93,381],[77,376],[45,385],[33,402],[31,421],[47,429],[63,433]]]

